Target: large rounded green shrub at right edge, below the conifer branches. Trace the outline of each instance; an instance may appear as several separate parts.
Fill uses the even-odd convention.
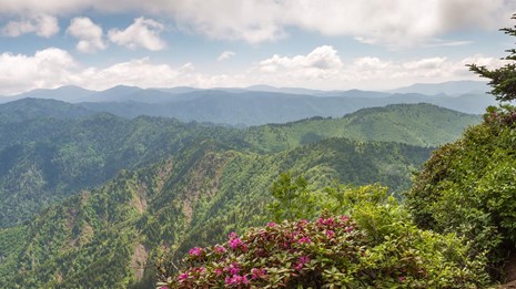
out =
[[[406,195],[416,223],[487,252],[493,273],[516,247],[516,109],[489,107],[480,125],[435,151]]]

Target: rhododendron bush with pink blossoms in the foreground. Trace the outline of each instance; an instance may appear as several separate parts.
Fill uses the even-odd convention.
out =
[[[225,244],[192,248],[184,269],[159,286],[476,288],[486,281],[482,261],[468,260],[458,239],[397,220],[399,209],[365,206],[360,221],[323,215],[232,233]]]

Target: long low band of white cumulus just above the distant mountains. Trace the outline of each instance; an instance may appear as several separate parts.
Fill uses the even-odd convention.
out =
[[[374,56],[343,60],[330,45],[293,56],[273,55],[239,73],[203,73],[192,63],[172,66],[150,58],[109,66],[81,66],[67,51],[50,48],[34,55],[0,54],[0,95],[40,87],[75,84],[104,90],[119,84],[141,87],[190,85],[198,87],[270,84],[310,89],[383,90],[416,82],[443,82],[478,78],[466,64],[496,68],[504,61],[484,55],[459,60],[447,58],[386,60]]]

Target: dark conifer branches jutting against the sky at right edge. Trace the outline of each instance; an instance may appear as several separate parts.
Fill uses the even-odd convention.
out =
[[[513,16],[516,19],[516,14]],[[516,37],[514,28],[500,29],[506,34]],[[490,93],[497,101],[513,101],[516,99],[516,49],[507,50],[509,53],[505,60],[509,61],[499,69],[489,70],[485,65],[469,64],[469,70],[479,74],[480,78],[489,79]]]

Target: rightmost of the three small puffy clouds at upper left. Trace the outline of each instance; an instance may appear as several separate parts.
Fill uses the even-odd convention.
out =
[[[110,41],[130,49],[143,48],[152,51],[163,50],[166,44],[160,39],[163,24],[143,17],[134,19],[134,23],[121,31],[111,29],[108,32]]]

